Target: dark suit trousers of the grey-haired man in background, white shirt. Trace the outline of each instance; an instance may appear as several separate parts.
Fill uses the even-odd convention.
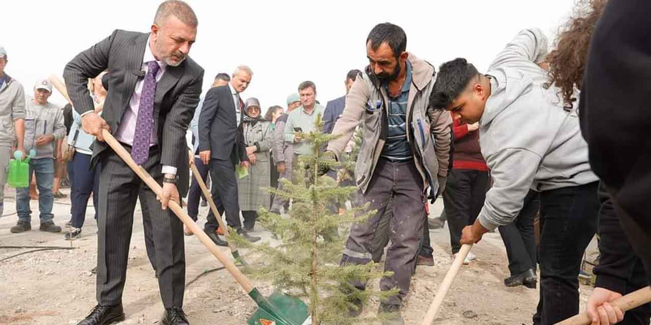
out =
[[[219,213],[226,212],[228,226],[240,229],[240,202],[238,199],[238,181],[235,178],[235,163],[231,160],[210,159],[210,178],[212,179],[212,196],[220,198],[221,205],[217,205]],[[216,204],[216,202],[215,202]],[[222,207],[219,209],[219,207]],[[215,231],[219,225],[212,211],[208,212],[208,222],[204,226],[206,231]]]

